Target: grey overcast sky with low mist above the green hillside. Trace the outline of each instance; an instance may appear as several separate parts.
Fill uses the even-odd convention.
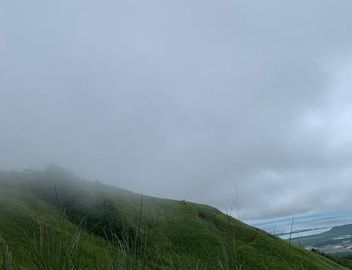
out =
[[[0,0],[0,168],[272,218],[352,203],[352,1]]]

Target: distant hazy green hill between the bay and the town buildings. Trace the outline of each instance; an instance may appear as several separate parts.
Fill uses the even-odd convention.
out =
[[[303,247],[305,246],[324,247],[326,245],[340,245],[344,240],[352,240],[352,237],[344,238],[344,239],[333,239],[333,238],[339,238],[339,236],[348,236],[348,235],[352,235],[352,224],[336,226],[336,227],[333,227],[328,232],[322,232],[321,234],[314,234],[311,236],[303,236],[303,237],[300,237],[299,240]],[[298,244],[298,238],[293,238],[292,242]]]

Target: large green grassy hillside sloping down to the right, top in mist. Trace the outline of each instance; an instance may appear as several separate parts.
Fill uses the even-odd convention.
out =
[[[142,199],[54,166],[0,172],[0,231],[3,270],[346,269],[213,207]]]

